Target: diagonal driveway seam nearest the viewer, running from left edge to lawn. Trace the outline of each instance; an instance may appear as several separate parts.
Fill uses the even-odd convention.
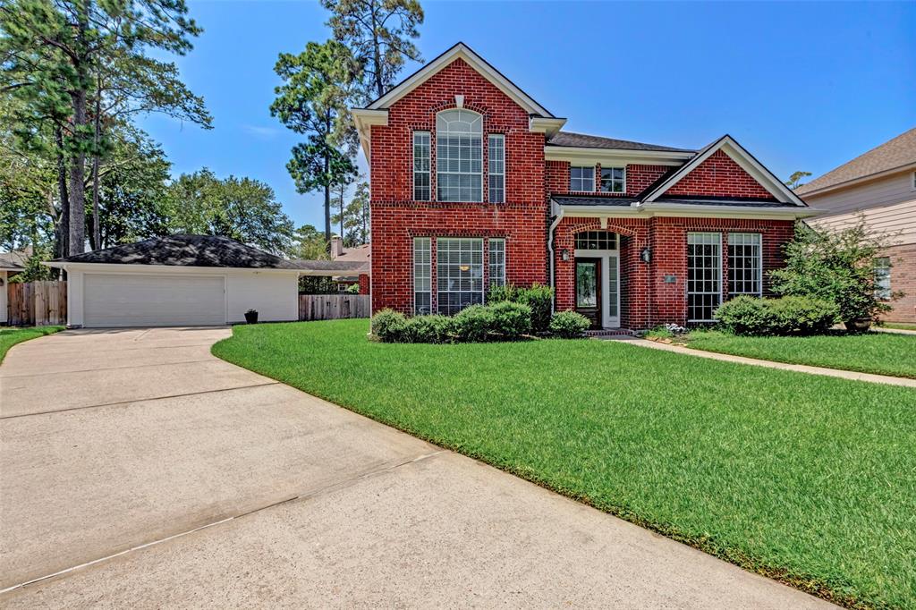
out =
[[[224,523],[228,523],[229,521],[234,521],[234,520],[236,520],[236,519],[240,519],[240,518],[243,518],[243,517],[250,517],[251,515],[254,515],[254,514],[256,514],[256,513],[260,513],[260,512],[262,512],[262,511],[268,510],[268,509],[270,509],[270,508],[278,507],[278,506],[281,506],[281,505],[284,505],[284,504],[289,504],[289,503],[295,502],[295,501],[297,501],[297,500],[307,500],[307,499],[311,499],[311,498],[313,498],[313,497],[323,496],[324,494],[328,494],[328,493],[337,491],[337,490],[339,490],[339,489],[344,489],[344,488],[349,487],[349,486],[351,486],[351,485],[355,485],[356,483],[358,483],[358,482],[360,482],[360,481],[363,481],[363,480],[365,480],[365,479],[367,479],[367,478],[369,478],[369,477],[378,476],[379,474],[386,474],[386,473],[389,473],[389,472],[391,472],[391,471],[397,470],[398,468],[401,468],[401,467],[403,467],[403,466],[408,466],[408,465],[410,465],[410,464],[412,464],[412,463],[421,462],[421,461],[423,461],[423,460],[427,460],[427,459],[429,459],[429,458],[435,457],[435,456],[440,455],[440,454],[442,454],[442,453],[450,453],[450,451],[449,451],[449,450],[445,450],[445,449],[440,449],[440,450],[434,451],[434,452],[423,453],[423,454],[421,454],[421,455],[412,457],[412,458],[410,458],[410,459],[408,459],[408,460],[402,460],[402,461],[397,462],[397,463],[387,463],[387,464],[385,464],[385,465],[383,465],[383,466],[381,466],[381,467],[379,467],[379,468],[376,468],[376,469],[374,469],[374,470],[370,470],[370,471],[365,472],[365,473],[357,474],[356,476],[352,476],[352,477],[350,477],[350,478],[348,478],[348,479],[344,479],[344,480],[342,480],[342,481],[336,481],[336,482],[334,482],[334,483],[332,483],[332,484],[330,484],[330,485],[324,485],[324,486],[322,486],[322,487],[318,487],[317,489],[313,489],[313,490],[311,490],[311,491],[301,492],[300,494],[297,494],[297,495],[295,495],[295,496],[289,496],[289,497],[286,497],[286,498],[283,498],[283,499],[280,499],[280,500],[276,500],[276,501],[274,501],[274,502],[269,502],[269,503],[265,504],[264,506],[251,508],[251,509],[249,509],[249,510],[245,510],[245,511],[243,511],[243,512],[240,512],[240,513],[237,513],[237,514],[235,514],[235,515],[232,515],[232,516],[230,516],[230,517],[224,517],[224,518],[221,518],[221,519],[217,519],[217,520],[213,521],[212,523],[205,523],[205,524],[203,524],[202,526],[198,526],[198,527],[196,527],[196,528],[191,528],[191,529],[187,529],[187,530],[185,530],[185,531],[180,531],[180,532],[178,532],[178,533],[176,533],[176,534],[170,534],[169,536],[165,536],[165,537],[160,538],[160,539],[150,540],[150,541],[148,541],[148,542],[144,542],[143,544],[138,544],[138,545],[136,545],[136,546],[134,546],[134,547],[131,547],[131,548],[129,548],[129,549],[119,550],[119,551],[117,551],[116,553],[111,553],[110,555],[105,555],[104,557],[99,557],[99,558],[96,558],[96,559],[91,560],[91,561],[83,561],[82,563],[79,563],[79,564],[77,564],[77,565],[73,565],[73,566],[71,566],[71,567],[69,567],[69,568],[64,568],[63,570],[58,570],[57,572],[51,572],[50,574],[45,574],[44,576],[38,576],[37,578],[29,579],[29,580],[27,580],[26,582],[23,582],[23,583],[17,583],[17,584],[10,585],[10,586],[8,586],[8,587],[5,587],[5,589],[0,589],[0,595],[10,593],[11,591],[15,591],[16,589],[20,589],[20,588],[27,587],[27,586],[29,586],[29,585],[31,585],[31,584],[41,583],[42,581],[47,581],[47,580],[49,580],[49,579],[51,579],[51,578],[55,578],[55,577],[57,577],[57,576],[63,576],[63,575],[68,574],[68,573],[70,573],[70,572],[76,572],[76,571],[78,571],[78,570],[82,570],[83,568],[88,568],[88,567],[90,567],[90,566],[93,566],[93,565],[95,565],[95,564],[97,564],[97,563],[102,563],[103,561],[113,560],[113,559],[115,559],[115,558],[117,558],[117,557],[121,557],[121,556],[126,555],[126,554],[128,554],[128,553],[133,553],[133,552],[136,552],[136,551],[139,551],[139,550],[147,549],[147,548],[149,548],[149,547],[158,546],[159,544],[163,544],[163,543],[169,542],[170,540],[183,538],[183,537],[185,537],[185,536],[190,536],[191,534],[193,534],[193,533],[195,533],[195,532],[198,532],[198,531],[201,531],[202,529],[213,528],[213,527],[216,527],[216,526],[218,526],[218,525],[222,525],[222,524],[224,524]]]

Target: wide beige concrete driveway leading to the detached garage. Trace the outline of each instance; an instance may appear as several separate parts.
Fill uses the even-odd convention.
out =
[[[7,354],[0,605],[826,606],[224,363],[229,334]]]

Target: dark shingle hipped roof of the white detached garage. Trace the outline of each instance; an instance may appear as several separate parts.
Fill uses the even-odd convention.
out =
[[[168,235],[59,258],[66,263],[297,269],[294,263],[228,237]]]

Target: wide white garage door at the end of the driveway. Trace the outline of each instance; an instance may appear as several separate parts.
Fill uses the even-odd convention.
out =
[[[222,276],[86,274],[83,325],[205,326],[224,324]]]

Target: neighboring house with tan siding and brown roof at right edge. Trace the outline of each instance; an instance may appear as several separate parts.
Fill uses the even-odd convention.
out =
[[[812,225],[842,228],[861,214],[870,229],[893,235],[895,245],[876,260],[882,292],[904,292],[883,316],[916,322],[916,128],[872,148],[795,190],[823,210]]]

